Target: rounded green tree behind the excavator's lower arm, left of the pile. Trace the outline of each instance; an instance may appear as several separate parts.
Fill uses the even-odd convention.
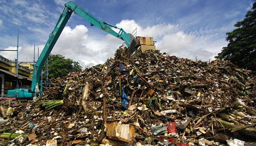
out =
[[[52,55],[48,57],[48,78],[62,78],[68,73],[81,72],[81,66],[78,62],[71,59],[65,59],[62,55]],[[43,66],[43,80],[47,78],[46,62]]]

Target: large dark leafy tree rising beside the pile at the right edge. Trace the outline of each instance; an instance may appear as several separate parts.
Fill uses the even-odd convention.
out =
[[[227,32],[228,46],[215,58],[230,61],[239,67],[256,71],[256,2],[243,21],[237,22],[232,32]]]

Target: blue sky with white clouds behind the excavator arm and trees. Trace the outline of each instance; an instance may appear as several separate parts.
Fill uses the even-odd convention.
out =
[[[17,49],[19,62],[43,50],[67,0],[0,0],[0,50]],[[90,14],[137,36],[153,37],[156,49],[177,57],[209,61],[228,42],[226,32],[245,18],[255,0],[73,0]],[[123,41],[72,14],[52,54],[85,66],[104,63]],[[14,60],[16,52],[1,51]]]

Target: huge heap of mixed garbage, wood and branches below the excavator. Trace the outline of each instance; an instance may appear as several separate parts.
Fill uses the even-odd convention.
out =
[[[0,101],[9,111],[0,144],[232,146],[256,138],[251,71],[159,50],[125,54],[120,47],[102,65],[52,79],[36,100]]]

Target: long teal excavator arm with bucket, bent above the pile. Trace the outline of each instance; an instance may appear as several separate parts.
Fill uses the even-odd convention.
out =
[[[59,16],[59,20],[57,21],[57,24],[54,30],[52,31],[50,38],[48,39],[45,47],[43,48],[43,51],[41,52],[40,57],[38,58],[38,61],[36,62],[36,65],[33,71],[32,84],[31,84],[31,90],[33,92],[36,91],[36,86],[39,83],[43,65],[47,57],[50,55],[52,48],[54,47],[56,41],[58,40],[60,34],[62,33],[62,30],[64,29],[67,21],[69,20],[73,12],[83,17],[85,20],[89,21],[91,23],[91,26],[94,25],[100,28],[101,30],[125,41],[126,46],[128,48],[128,54],[131,54],[132,52],[135,51],[135,45],[137,43],[137,39],[132,34],[126,33],[122,28],[118,28],[115,25],[111,25],[104,21],[98,20],[97,18],[89,14],[87,11],[85,11],[84,9],[76,5],[74,2],[67,2],[65,3],[64,6],[65,6],[64,10],[62,14]],[[119,29],[119,32],[116,33],[109,26]]]

